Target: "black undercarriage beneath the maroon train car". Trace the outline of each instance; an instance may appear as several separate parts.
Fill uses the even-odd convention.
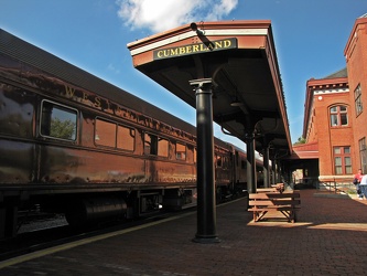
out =
[[[0,203],[0,240],[18,234],[23,214],[37,209],[42,213],[63,214],[73,227],[87,227],[109,221],[128,221],[164,211],[196,206],[196,187],[149,189],[98,193],[32,194],[20,192],[2,197]],[[227,188],[217,189],[217,202],[238,197]],[[236,194],[235,194],[236,193]],[[28,194],[28,197],[21,195]],[[35,208],[36,206],[36,208]]]

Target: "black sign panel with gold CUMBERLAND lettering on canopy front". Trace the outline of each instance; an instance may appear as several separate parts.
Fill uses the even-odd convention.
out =
[[[235,38],[226,40],[211,41],[208,43],[196,43],[190,45],[182,45],[176,47],[168,47],[155,50],[153,52],[154,60],[162,60],[182,55],[198,54],[205,52],[220,51],[227,49],[236,49],[237,40]]]

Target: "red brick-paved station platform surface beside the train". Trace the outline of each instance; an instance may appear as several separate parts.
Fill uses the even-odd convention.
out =
[[[301,190],[292,224],[217,208],[220,243],[192,242],[196,213],[0,263],[0,275],[367,275],[367,201]],[[9,264],[11,264],[9,266]]]

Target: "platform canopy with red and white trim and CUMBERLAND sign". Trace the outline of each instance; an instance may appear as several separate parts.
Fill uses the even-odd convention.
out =
[[[194,108],[190,81],[211,78],[214,121],[270,158],[292,152],[270,21],[192,23],[128,49],[134,67]]]

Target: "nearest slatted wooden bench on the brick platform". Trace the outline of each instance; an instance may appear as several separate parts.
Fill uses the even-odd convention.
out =
[[[253,222],[259,222],[269,211],[279,211],[294,223],[300,204],[299,191],[250,193],[248,211],[253,212]]]

